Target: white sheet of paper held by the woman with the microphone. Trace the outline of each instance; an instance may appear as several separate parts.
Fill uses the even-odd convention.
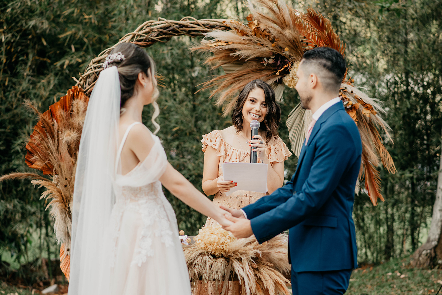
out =
[[[267,164],[261,163],[224,163],[222,164],[224,180],[238,183],[229,193],[237,190],[267,193]]]

